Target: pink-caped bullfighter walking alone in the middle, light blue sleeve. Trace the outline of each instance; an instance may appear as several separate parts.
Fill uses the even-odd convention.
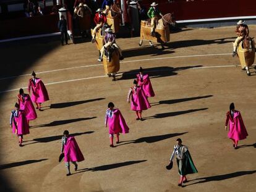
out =
[[[119,133],[129,133],[129,127],[126,124],[126,120],[122,117],[119,109],[114,109],[113,102],[109,102],[108,109],[106,110],[105,127],[108,127],[110,146],[113,148],[113,138],[116,134],[116,143],[119,143]]]

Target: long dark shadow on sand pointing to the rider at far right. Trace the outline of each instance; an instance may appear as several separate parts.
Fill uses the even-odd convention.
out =
[[[177,49],[177,48],[187,48],[192,46],[200,46],[205,44],[224,44],[231,43],[234,41],[236,37],[230,38],[220,38],[216,40],[182,40],[182,41],[172,41],[164,44],[164,46],[168,46],[168,48]]]

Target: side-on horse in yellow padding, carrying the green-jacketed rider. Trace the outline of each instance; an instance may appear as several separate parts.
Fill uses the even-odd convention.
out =
[[[156,25],[155,36],[151,35],[150,19],[141,22],[140,25],[140,43],[142,46],[143,40],[148,40],[150,46],[153,47],[152,41],[161,43],[161,48],[164,49],[163,44],[169,41],[169,25],[176,25],[173,13],[165,14],[158,20]]]

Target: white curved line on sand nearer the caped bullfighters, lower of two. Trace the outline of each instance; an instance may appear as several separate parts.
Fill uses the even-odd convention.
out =
[[[224,67],[237,67],[239,65],[216,65],[216,66],[209,66],[209,67],[191,67],[189,69],[211,69],[211,68],[224,68]],[[255,66],[255,65],[254,65]],[[175,68],[173,69],[174,71],[176,70]],[[170,70],[170,71],[173,71]],[[161,72],[161,71],[168,71],[168,70],[145,70],[145,72]],[[177,69],[177,71],[179,71],[179,69]],[[127,72],[127,73],[137,73],[137,72]],[[116,76],[121,76],[123,73],[117,73]],[[67,82],[72,82],[72,81],[80,81],[80,80],[89,80],[89,79],[93,79],[93,78],[102,78],[102,77],[108,77],[108,75],[101,75],[101,76],[95,76],[95,77],[85,77],[85,78],[77,78],[74,80],[65,80],[65,81],[56,81],[56,82],[52,82],[52,83],[45,83],[45,85],[54,85],[54,84],[59,84],[59,83],[67,83]],[[28,87],[23,87],[22,89],[27,89]],[[7,93],[7,92],[11,92],[11,91],[17,91],[20,90],[20,88],[16,88],[13,90],[6,90],[6,91],[0,91],[1,93]]]

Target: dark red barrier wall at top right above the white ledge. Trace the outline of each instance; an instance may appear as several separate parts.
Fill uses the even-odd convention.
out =
[[[148,8],[153,1],[143,0],[141,4]],[[156,0],[156,2],[163,14],[174,12],[176,20],[256,15],[255,0],[195,0],[192,2]]]

